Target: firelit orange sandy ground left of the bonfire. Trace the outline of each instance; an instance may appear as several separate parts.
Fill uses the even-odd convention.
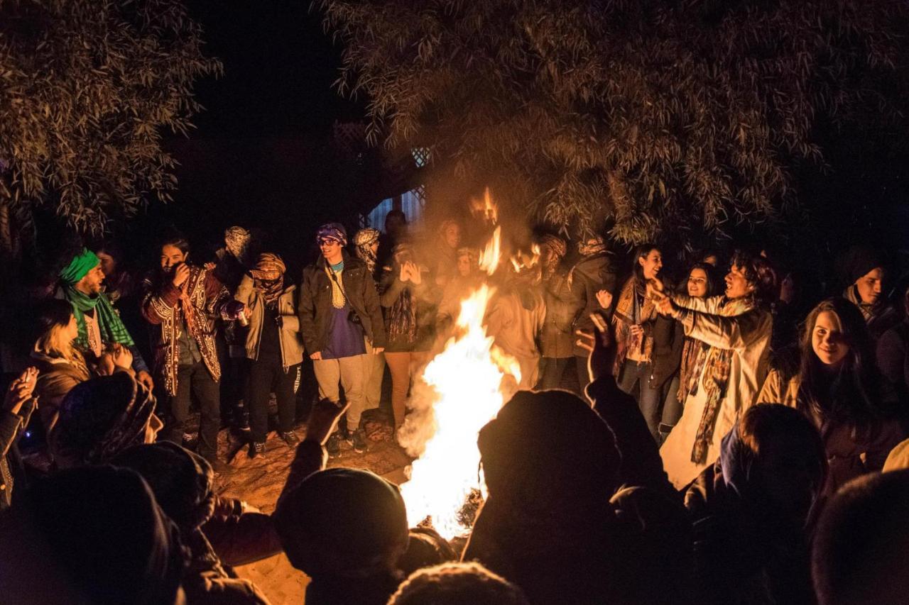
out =
[[[360,454],[344,443],[341,454],[330,458],[328,466],[367,469],[395,483],[404,481],[404,469],[410,459],[392,440],[391,427],[385,417],[366,412],[365,418],[369,449]],[[305,427],[299,427],[297,434],[303,438]],[[237,437],[228,431],[222,431],[219,437],[219,453],[226,456],[236,452],[230,462],[231,470],[218,477],[219,493],[245,500],[263,512],[274,511],[294,452],[272,432],[265,444],[265,456],[250,460],[247,448]],[[305,573],[291,567],[284,554],[238,567],[236,571],[253,580],[272,605],[304,602],[309,579]]]

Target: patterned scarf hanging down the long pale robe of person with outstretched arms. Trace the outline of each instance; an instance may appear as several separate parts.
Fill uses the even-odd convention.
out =
[[[744,305],[744,306],[743,306]],[[724,302],[720,309],[721,315],[737,315],[754,306],[750,299],[734,299]],[[742,307],[738,313],[730,312],[735,307]],[[720,403],[729,387],[729,375],[732,368],[734,351],[709,347],[705,354],[701,354],[694,365],[694,387],[692,395],[697,394],[698,382],[704,387],[707,401],[704,402],[704,413],[701,422],[697,425],[697,434],[694,436],[694,447],[691,450],[691,461],[704,464],[707,461],[707,449],[714,438],[716,419],[720,412]],[[700,380],[699,380],[700,377]]]

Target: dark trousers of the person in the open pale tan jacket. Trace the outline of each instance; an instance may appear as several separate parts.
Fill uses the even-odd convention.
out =
[[[281,360],[251,361],[249,364],[249,428],[250,437],[257,443],[268,435],[268,395],[275,393],[278,401],[278,431],[294,430],[296,394],[294,385],[300,365],[284,371]]]

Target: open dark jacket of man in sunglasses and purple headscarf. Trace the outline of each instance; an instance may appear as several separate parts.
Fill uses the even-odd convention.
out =
[[[385,323],[375,290],[373,276],[366,263],[344,252],[341,283],[347,302],[360,318],[366,338],[374,347],[385,347]],[[321,352],[328,344],[328,324],[332,314],[332,282],[325,273],[325,257],[303,270],[297,315],[305,350]]]

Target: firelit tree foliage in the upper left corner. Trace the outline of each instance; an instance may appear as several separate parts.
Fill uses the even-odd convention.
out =
[[[49,211],[98,234],[169,200],[162,129],[185,134],[195,78],[221,71],[202,46],[181,0],[0,0],[5,227]]]

